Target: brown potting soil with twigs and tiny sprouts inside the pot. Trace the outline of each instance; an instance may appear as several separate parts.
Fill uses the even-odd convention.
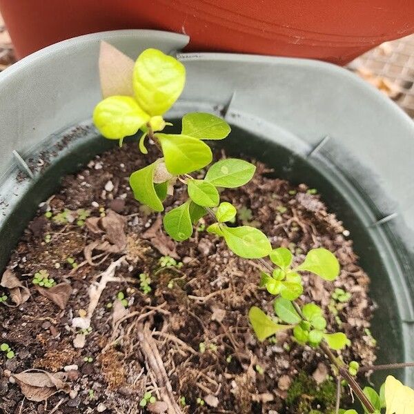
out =
[[[324,355],[289,332],[260,343],[248,324],[250,306],[273,313],[273,297],[257,287],[257,263],[206,233],[208,217],[190,240],[173,242],[161,215],[133,199],[128,177],[151,159],[136,144],[115,148],[39,206],[3,275],[17,287],[0,287],[8,305],[12,295],[22,302],[0,304],[0,342],[14,352],[9,359],[0,351],[1,412],[162,413],[160,401],[171,397],[184,413],[328,413],[336,391]],[[257,164],[249,184],[221,199],[237,206],[237,224],[261,228],[297,261],[319,246],[335,253],[338,279],[304,275],[300,300],[310,296],[328,330],[348,335],[347,362],[372,364],[369,279],[348,232],[315,190],[269,172]],[[167,210],[185,197],[177,184]],[[57,286],[34,285],[39,272]],[[350,295],[333,299],[335,288]],[[79,326],[85,315],[91,328]],[[162,388],[168,380],[171,393]],[[146,392],[158,402],[141,408]]]

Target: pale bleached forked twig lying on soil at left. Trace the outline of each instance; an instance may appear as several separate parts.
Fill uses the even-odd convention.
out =
[[[115,262],[112,262],[106,270],[104,270],[97,279],[100,277],[99,283],[94,282],[89,287],[89,306],[86,317],[75,317],[72,319],[72,326],[75,328],[89,328],[90,321],[95,309],[98,306],[99,299],[102,295],[103,290],[106,288],[108,282],[121,282],[119,277],[115,277],[115,270],[117,267],[124,262],[125,256],[120,257]]]

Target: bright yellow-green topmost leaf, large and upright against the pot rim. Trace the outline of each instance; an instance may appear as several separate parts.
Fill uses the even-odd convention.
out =
[[[134,66],[132,86],[139,106],[150,115],[163,115],[177,101],[186,82],[186,68],[156,49],[146,49]]]

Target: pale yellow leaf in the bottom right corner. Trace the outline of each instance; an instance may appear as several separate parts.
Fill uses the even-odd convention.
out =
[[[386,414],[408,414],[414,409],[414,390],[392,375],[385,380]]]

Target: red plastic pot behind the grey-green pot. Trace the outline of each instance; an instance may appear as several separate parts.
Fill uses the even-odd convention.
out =
[[[125,28],[190,36],[188,50],[345,64],[414,32],[413,0],[0,0],[23,57],[79,34]]]

